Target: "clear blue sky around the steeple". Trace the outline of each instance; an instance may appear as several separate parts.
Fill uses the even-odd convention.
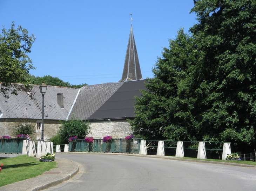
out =
[[[35,76],[71,84],[121,79],[130,32],[130,13],[143,79],[162,47],[181,27],[196,23],[193,0],[0,0],[0,25],[21,25],[36,40],[29,57]],[[1,27],[2,29],[2,27]]]

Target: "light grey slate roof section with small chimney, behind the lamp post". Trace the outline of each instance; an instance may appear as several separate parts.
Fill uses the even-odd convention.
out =
[[[32,90],[23,85],[17,85],[18,95],[9,93],[9,99],[0,93],[1,118],[42,118],[42,94],[39,85],[34,85]],[[44,119],[64,120],[74,103],[79,89],[48,86],[45,94],[45,117]],[[57,103],[57,94],[63,93],[64,108]]]

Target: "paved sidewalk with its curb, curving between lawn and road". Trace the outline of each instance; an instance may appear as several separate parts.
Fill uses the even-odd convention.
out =
[[[78,163],[56,157],[56,167],[42,175],[0,187],[0,191],[40,191],[72,178],[79,171]]]

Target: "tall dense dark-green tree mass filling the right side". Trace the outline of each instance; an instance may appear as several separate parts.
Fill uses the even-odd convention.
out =
[[[134,133],[255,147],[256,1],[194,2],[198,23],[169,41],[136,98]]]

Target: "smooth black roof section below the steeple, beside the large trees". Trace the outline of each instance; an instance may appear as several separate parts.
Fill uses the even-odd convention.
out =
[[[140,90],[147,90],[144,86],[146,80],[126,81],[115,91],[115,93],[91,116],[93,119],[119,119],[133,118],[134,115],[134,96],[141,97]]]

